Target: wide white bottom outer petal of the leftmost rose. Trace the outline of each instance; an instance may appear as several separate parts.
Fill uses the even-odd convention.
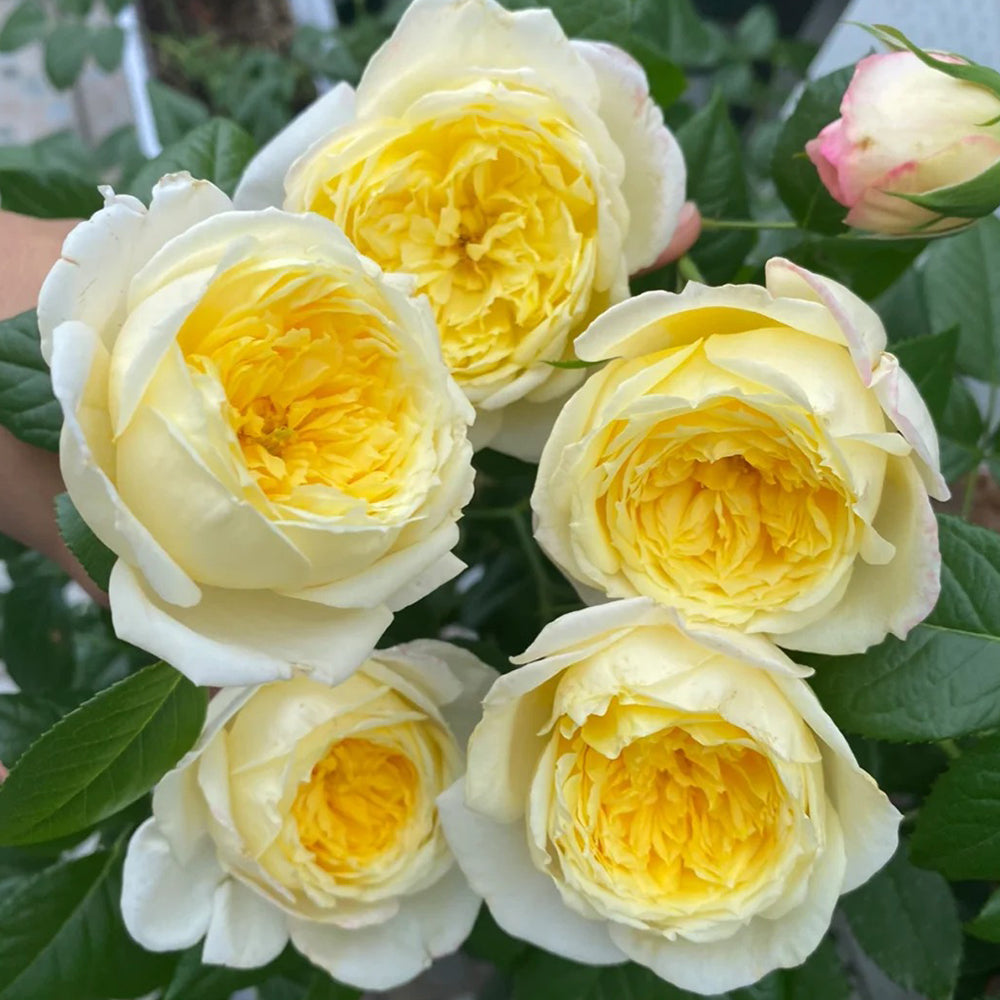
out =
[[[384,607],[339,610],[269,591],[206,588],[180,608],[159,601],[119,560],[108,588],[119,638],[148,649],[196,684],[287,678],[295,666],[328,683],[348,677],[392,620]]]

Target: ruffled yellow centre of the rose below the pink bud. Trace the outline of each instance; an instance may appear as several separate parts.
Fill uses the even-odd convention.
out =
[[[612,425],[598,514],[640,593],[733,623],[821,586],[856,548],[854,498],[815,419],[732,398]]]

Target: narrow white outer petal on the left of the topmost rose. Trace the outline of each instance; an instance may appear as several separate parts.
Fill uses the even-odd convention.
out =
[[[286,125],[247,164],[233,195],[238,209],[280,207],[285,201],[285,175],[315,142],[329,137],[354,119],[354,88],[338,83]]]

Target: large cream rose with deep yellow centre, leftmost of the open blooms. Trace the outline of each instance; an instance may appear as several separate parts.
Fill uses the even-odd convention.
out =
[[[462,568],[473,413],[430,310],[318,216],[187,174],[106,197],[38,319],[115,628],[200,684],[339,680]]]

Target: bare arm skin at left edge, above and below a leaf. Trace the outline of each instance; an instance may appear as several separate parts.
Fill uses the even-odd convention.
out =
[[[56,262],[72,219],[29,219],[0,211],[0,317],[34,307]],[[63,544],[53,499],[65,489],[59,458],[19,441],[0,427],[0,532],[58,563],[95,600],[107,596]]]

